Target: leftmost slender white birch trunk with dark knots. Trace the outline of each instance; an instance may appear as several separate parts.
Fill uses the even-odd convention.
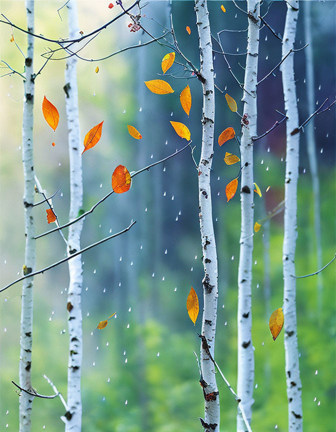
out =
[[[34,1],[26,0],[27,29],[34,31]],[[25,257],[24,265],[35,270],[36,244],[35,225],[32,216],[34,202],[34,163],[33,163],[33,106],[34,106],[34,75],[33,75],[34,38],[27,35],[27,55],[25,58],[25,81],[23,98],[22,122],[22,162],[24,176],[24,229]],[[33,278],[27,277],[22,285],[21,323],[20,323],[20,361],[19,383],[22,388],[31,389],[31,347],[32,347],[32,300]],[[31,404],[33,396],[22,392],[19,398],[19,431],[31,430]]]

